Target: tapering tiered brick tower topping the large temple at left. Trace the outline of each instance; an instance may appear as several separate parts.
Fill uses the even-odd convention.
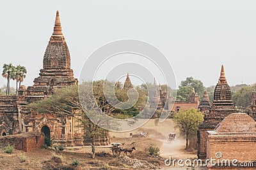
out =
[[[54,30],[45,50],[44,66],[39,75],[35,78],[34,85],[27,89],[28,102],[51,96],[53,89],[77,85],[78,82],[70,69],[70,53],[61,31],[59,11],[56,13]]]

